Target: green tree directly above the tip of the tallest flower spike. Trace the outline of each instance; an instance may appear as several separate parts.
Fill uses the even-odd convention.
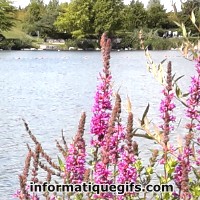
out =
[[[95,12],[95,33],[101,35],[103,32],[113,33],[122,27],[122,0],[96,0]]]

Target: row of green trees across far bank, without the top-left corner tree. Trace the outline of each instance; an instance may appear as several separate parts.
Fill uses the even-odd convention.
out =
[[[199,1],[187,1],[178,13],[191,34],[197,31],[189,16],[194,9],[200,22],[199,8]],[[115,34],[134,32],[136,29],[177,28],[173,22],[176,20],[174,12],[167,13],[160,0],[150,0],[146,9],[139,0],[132,0],[129,5],[125,5],[123,0],[72,0],[62,4],[51,0],[48,5],[43,0],[32,0],[18,12],[24,14],[24,30],[32,35],[40,34],[41,37],[91,38],[100,36],[104,31]]]

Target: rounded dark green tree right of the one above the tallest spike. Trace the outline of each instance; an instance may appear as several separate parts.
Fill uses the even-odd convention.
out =
[[[123,27],[130,32],[134,29],[140,29],[147,24],[147,12],[144,4],[140,1],[132,0],[130,5],[126,6],[123,12],[124,25]]]

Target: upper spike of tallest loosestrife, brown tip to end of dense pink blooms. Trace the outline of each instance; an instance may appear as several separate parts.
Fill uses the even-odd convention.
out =
[[[92,146],[99,148],[103,144],[104,136],[108,129],[109,118],[111,115],[111,74],[109,71],[111,40],[104,33],[101,38],[101,51],[103,54],[103,73],[99,77],[99,85],[95,95],[95,103],[92,109],[93,116],[90,125],[90,132],[93,135]]]

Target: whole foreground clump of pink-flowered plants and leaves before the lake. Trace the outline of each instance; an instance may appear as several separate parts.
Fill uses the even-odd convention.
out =
[[[111,40],[106,34],[102,35],[100,46],[103,69],[99,75],[89,133],[84,129],[86,113],[83,112],[72,142],[67,144],[64,135],[63,143],[56,142],[63,157],[54,162],[24,121],[26,131],[35,147],[27,145],[25,166],[19,175],[19,190],[13,197],[21,200],[199,199],[200,57],[194,60],[196,74],[191,78],[187,94],[182,93],[181,98],[177,83],[179,78],[172,73],[172,63],[168,63],[166,74],[162,76],[161,81],[163,98],[160,106],[158,105],[161,124],[155,125],[148,120],[149,105],[142,119],[136,123],[130,100],[127,106],[127,122],[123,123],[120,117],[123,112],[121,97],[111,87]],[[155,71],[154,69],[154,73]],[[157,72],[160,72],[160,68]],[[183,115],[187,119],[183,127],[185,135],[178,142],[170,139],[171,135],[176,133],[173,125],[176,120],[173,114],[176,109],[175,97],[185,106]],[[84,134],[90,134],[89,144],[86,144]],[[145,163],[141,159],[140,144],[135,141],[136,137],[142,137],[147,142],[151,139],[157,143],[157,148],[150,150],[151,156]],[[41,178],[41,170],[46,173],[46,179]],[[33,185],[36,184],[40,190],[33,192]],[[49,184],[54,186],[49,187]],[[76,189],[52,193],[52,187],[55,188],[59,184],[73,184]],[[96,184],[98,188],[96,186],[88,189],[87,186],[81,189],[81,185],[85,184],[90,184],[91,188]],[[154,187],[154,184],[157,186]]]

